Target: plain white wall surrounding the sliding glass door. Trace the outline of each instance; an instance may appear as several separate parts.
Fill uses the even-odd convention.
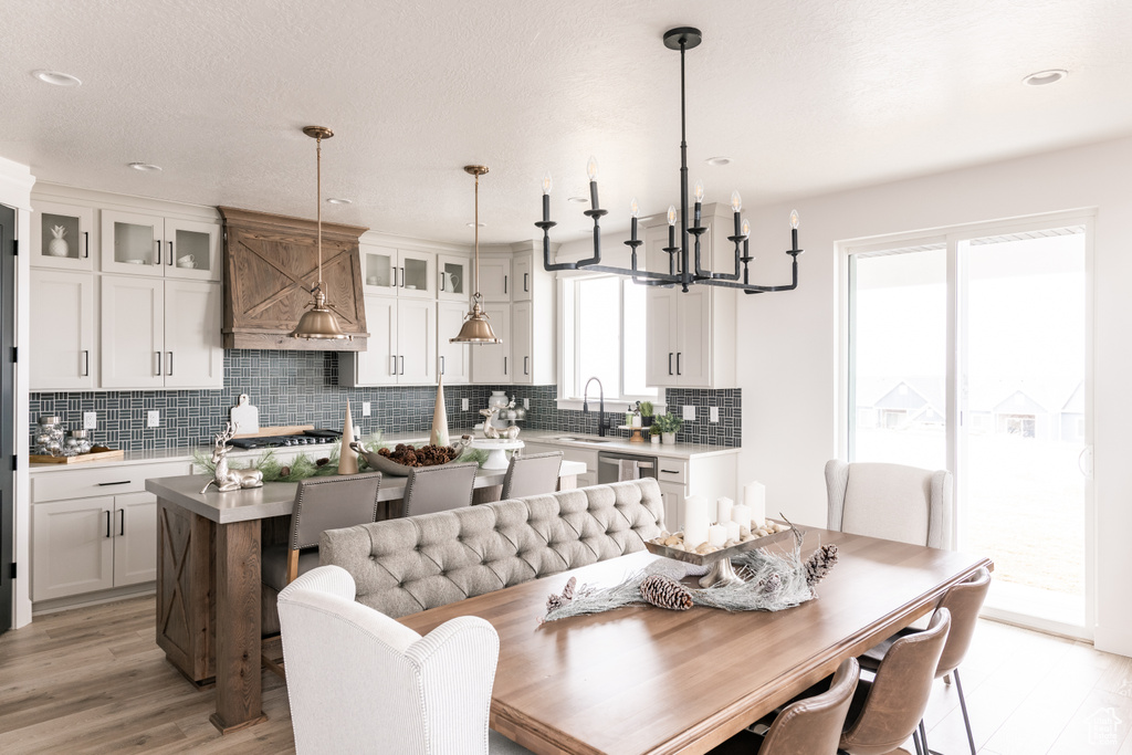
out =
[[[1094,288],[1095,492],[1100,650],[1132,655],[1132,139],[757,208],[758,283],[788,280],[787,216],[801,215],[801,282],[739,303],[743,474],[770,511],[825,523],[822,467],[838,453],[834,243],[1037,213],[1097,212]],[[775,251],[769,251],[769,250]]]

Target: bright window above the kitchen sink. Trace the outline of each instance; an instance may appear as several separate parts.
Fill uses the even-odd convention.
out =
[[[581,398],[595,377],[607,400],[655,401],[644,381],[645,288],[620,275],[561,278],[561,286],[559,398]]]

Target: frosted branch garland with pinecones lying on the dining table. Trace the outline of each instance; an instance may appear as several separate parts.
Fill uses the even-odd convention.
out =
[[[801,541],[805,533],[798,527],[794,527],[794,548],[789,552],[760,549],[732,559],[736,573],[744,580],[740,584],[689,589],[679,580],[703,569],[667,559],[650,564],[646,569],[631,574],[612,587],[577,587],[575,578],[571,577],[561,595],[550,595],[547,600],[547,615],[542,621],[640,604],[671,610],[704,606],[726,611],[781,611],[800,606],[817,597],[814,587],[833,568],[838,549],[833,544],[822,546],[804,561]]]

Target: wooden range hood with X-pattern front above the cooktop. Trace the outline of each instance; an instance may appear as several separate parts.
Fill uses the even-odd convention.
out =
[[[358,237],[369,229],[323,222],[323,288],[351,341],[292,338],[318,280],[315,221],[217,207],[224,218],[224,348],[366,351]]]

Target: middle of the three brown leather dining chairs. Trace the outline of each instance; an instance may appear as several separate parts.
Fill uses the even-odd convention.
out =
[[[917,753],[927,752],[920,721],[950,628],[951,612],[937,608],[927,629],[892,643],[873,679],[861,677],[841,733],[839,746],[843,752],[882,755],[895,750],[909,737],[916,741]]]

